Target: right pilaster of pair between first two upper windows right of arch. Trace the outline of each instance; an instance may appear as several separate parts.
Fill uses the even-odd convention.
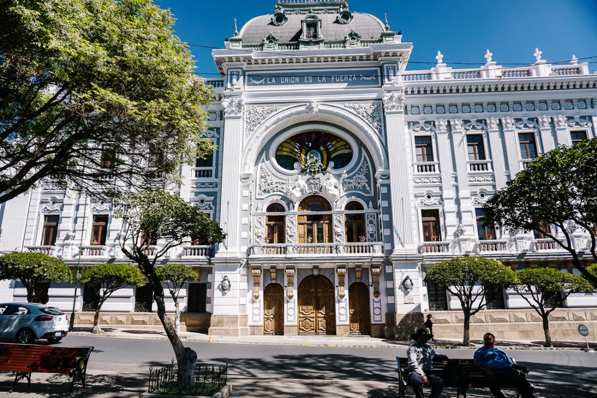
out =
[[[466,229],[466,235],[474,235],[473,224],[475,223],[475,215],[473,214],[472,203],[470,200],[464,124],[462,119],[450,119],[450,126],[452,128],[454,144],[454,161],[456,163],[461,224]]]

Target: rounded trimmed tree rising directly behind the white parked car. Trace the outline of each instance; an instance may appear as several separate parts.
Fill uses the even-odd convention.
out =
[[[0,280],[20,280],[27,289],[27,302],[36,301],[38,282],[72,283],[73,274],[64,261],[33,252],[11,252],[0,257]]]

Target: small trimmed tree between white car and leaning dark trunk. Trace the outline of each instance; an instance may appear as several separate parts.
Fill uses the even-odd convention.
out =
[[[79,282],[85,283],[85,289],[94,289],[97,297],[100,298],[93,317],[93,333],[101,333],[99,326],[101,306],[118,289],[125,286],[145,285],[145,278],[137,267],[128,264],[97,264],[85,268],[81,272]]]

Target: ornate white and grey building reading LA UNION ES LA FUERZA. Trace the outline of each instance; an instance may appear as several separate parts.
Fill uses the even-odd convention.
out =
[[[586,63],[552,65],[537,50],[533,64],[505,68],[488,50],[478,69],[452,69],[438,53],[431,69],[407,71],[413,44],[344,1],[278,2],[225,44],[213,51],[223,78],[207,81],[219,150],[181,169],[178,193],[227,239],[165,260],[199,274],[181,294],[187,330],[392,338],[433,311],[436,333],[460,337],[458,300],[423,282],[434,263],[466,254],[577,272],[552,240],[478,218],[528,161],[595,137],[597,75]],[[0,249],[55,255],[73,269],[128,262],[111,210],[41,184],[1,205]],[[579,251],[587,238],[574,235]],[[18,282],[0,283],[1,300],[24,300]],[[522,298],[490,293],[473,338],[543,336]],[[70,310],[75,285],[45,295]],[[74,300],[77,322],[89,323],[93,295],[82,286]],[[147,289],[122,289],[102,323],[150,327],[159,322],[151,304]],[[596,295],[571,295],[553,314],[554,338],[597,325],[596,307]]]

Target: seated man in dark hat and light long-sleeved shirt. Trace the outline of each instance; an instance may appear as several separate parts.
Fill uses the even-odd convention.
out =
[[[423,385],[431,386],[429,398],[438,398],[444,390],[444,380],[439,375],[433,373],[433,357],[442,357],[446,361],[448,357],[436,354],[427,341],[433,337],[427,333],[426,329],[418,329],[411,335],[416,343],[411,344],[407,350],[408,369],[410,370],[410,384],[413,387],[417,398],[424,398]]]

